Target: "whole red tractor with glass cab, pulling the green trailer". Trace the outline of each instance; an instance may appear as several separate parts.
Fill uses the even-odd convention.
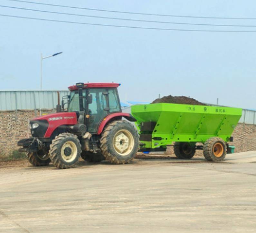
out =
[[[34,166],[52,162],[57,168],[69,168],[80,156],[88,162],[129,163],[138,149],[138,134],[128,122],[136,121],[135,118],[121,110],[119,85],[70,86],[70,95],[62,97],[57,113],[30,121],[32,137],[18,142],[22,146],[19,151],[26,152]]]

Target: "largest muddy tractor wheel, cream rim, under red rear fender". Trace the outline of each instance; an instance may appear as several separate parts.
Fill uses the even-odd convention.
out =
[[[129,163],[137,153],[138,134],[128,121],[112,121],[101,134],[102,155],[112,164]]]

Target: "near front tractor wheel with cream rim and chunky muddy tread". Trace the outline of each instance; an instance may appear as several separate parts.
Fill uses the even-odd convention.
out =
[[[50,158],[57,168],[74,166],[81,154],[81,144],[77,136],[71,133],[61,133],[52,140]]]

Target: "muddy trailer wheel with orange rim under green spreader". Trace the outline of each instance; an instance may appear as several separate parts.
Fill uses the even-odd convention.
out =
[[[226,143],[223,139],[212,137],[204,143],[204,157],[208,161],[220,162],[226,157]]]

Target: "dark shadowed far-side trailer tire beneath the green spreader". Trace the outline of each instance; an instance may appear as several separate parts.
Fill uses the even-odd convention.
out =
[[[178,159],[191,159],[195,154],[195,145],[189,142],[175,142],[174,154]]]

